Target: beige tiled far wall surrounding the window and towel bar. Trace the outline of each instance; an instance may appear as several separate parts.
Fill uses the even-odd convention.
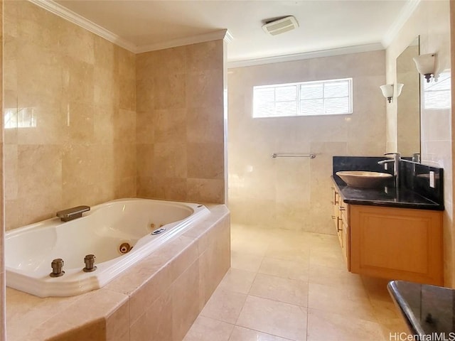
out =
[[[385,152],[384,51],[228,70],[232,222],[333,234],[332,156]],[[353,114],[252,119],[252,87],[353,77]],[[271,158],[272,153],[316,153]]]

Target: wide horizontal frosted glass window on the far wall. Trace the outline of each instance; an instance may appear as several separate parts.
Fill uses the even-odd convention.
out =
[[[253,87],[253,117],[352,114],[352,78]]]

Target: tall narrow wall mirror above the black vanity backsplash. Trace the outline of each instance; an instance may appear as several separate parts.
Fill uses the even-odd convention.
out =
[[[419,37],[397,58],[397,83],[404,84],[397,100],[397,150],[404,156],[420,153],[420,77],[413,57],[419,55]]]

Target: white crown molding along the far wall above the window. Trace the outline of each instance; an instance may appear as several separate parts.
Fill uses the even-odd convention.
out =
[[[348,46],[346,48],[332,48],[330,50],[319,50],[306,53],[294,53],[292,55],[277,55],[268,58],[257,58],[248,60],[232,60],[228,61],[228,68],[245,67],[253,65],[271,64],[291,62],[294,60],[304,60],[311,58],[331,57],[333,55],[348,55],[350,53],[362,53],[370,51],[384,50],[381,43],[371,43],[365,45]]]

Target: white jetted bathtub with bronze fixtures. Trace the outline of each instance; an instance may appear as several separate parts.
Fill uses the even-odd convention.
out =
[[[102,288],[208,214],[207,207],[193,203],[120,199],[69,222],[53,218],[8,231],[6,286],[39,297]],[[88,254],[96,257],[92,272],[82,270]],[[49,276],[53,259],[63,259],[63,276]]]

